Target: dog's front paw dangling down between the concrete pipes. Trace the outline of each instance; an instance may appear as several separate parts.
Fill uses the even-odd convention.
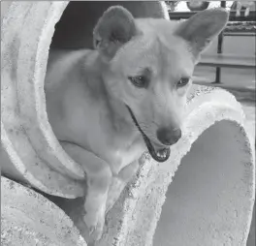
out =
[[[99,240],[105,225],[105,210],[86,211],[83,221],[89,230],[90,237],[95,241]]]

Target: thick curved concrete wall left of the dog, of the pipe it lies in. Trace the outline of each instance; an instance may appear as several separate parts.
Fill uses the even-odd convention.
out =
[[[79,181],[84,173],[52,133],[44,92],[50,37],[66,5],[14,2],[3,19],[1,137],[10,160],[2,163],[2,170],[13,166],[22,181],[56,196],[74,198],[84,194]],[[18,178],[16,173],[9,174]]]

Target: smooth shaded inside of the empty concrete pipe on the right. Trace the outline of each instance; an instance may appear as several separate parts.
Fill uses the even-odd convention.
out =
[[[235,245],[244,238],[253,173],[246,148],[240,127],[227,120],[193,143],[168,188],[154,246]]]

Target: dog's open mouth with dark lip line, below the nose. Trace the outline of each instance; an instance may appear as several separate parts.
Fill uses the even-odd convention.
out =
[[[155,148],[153,146],[153,144],[151,143],[150,139],[147,138],[147,136],[144,134],[144,131],[142,130],[142,128],[140,127],[138,121],[136,120],[136,117],[135,115],[133,114],[133,111],[132,109],[126,105],[126,107],[128,108],[130,114],[131,114],[131,117],[135,123],[135,125],[137,126],[137,128],[139,129],[140,133],[142,134],[143,138],[144,138],[144,143],[147,147],[147,150],[149,152],[149,154],[151,155],[151,157],[159,162],[159,163],[163,163],[165,161],[168,160],[168,158],[170,157],[170,154],[171,154],[171,150],[170,150],[170,147],[165,147],[165,148]]]

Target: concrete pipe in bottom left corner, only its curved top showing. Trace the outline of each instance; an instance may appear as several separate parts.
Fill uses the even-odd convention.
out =
[[[1,177],[1,245],[86,246],[71,219],[42,195]]]

